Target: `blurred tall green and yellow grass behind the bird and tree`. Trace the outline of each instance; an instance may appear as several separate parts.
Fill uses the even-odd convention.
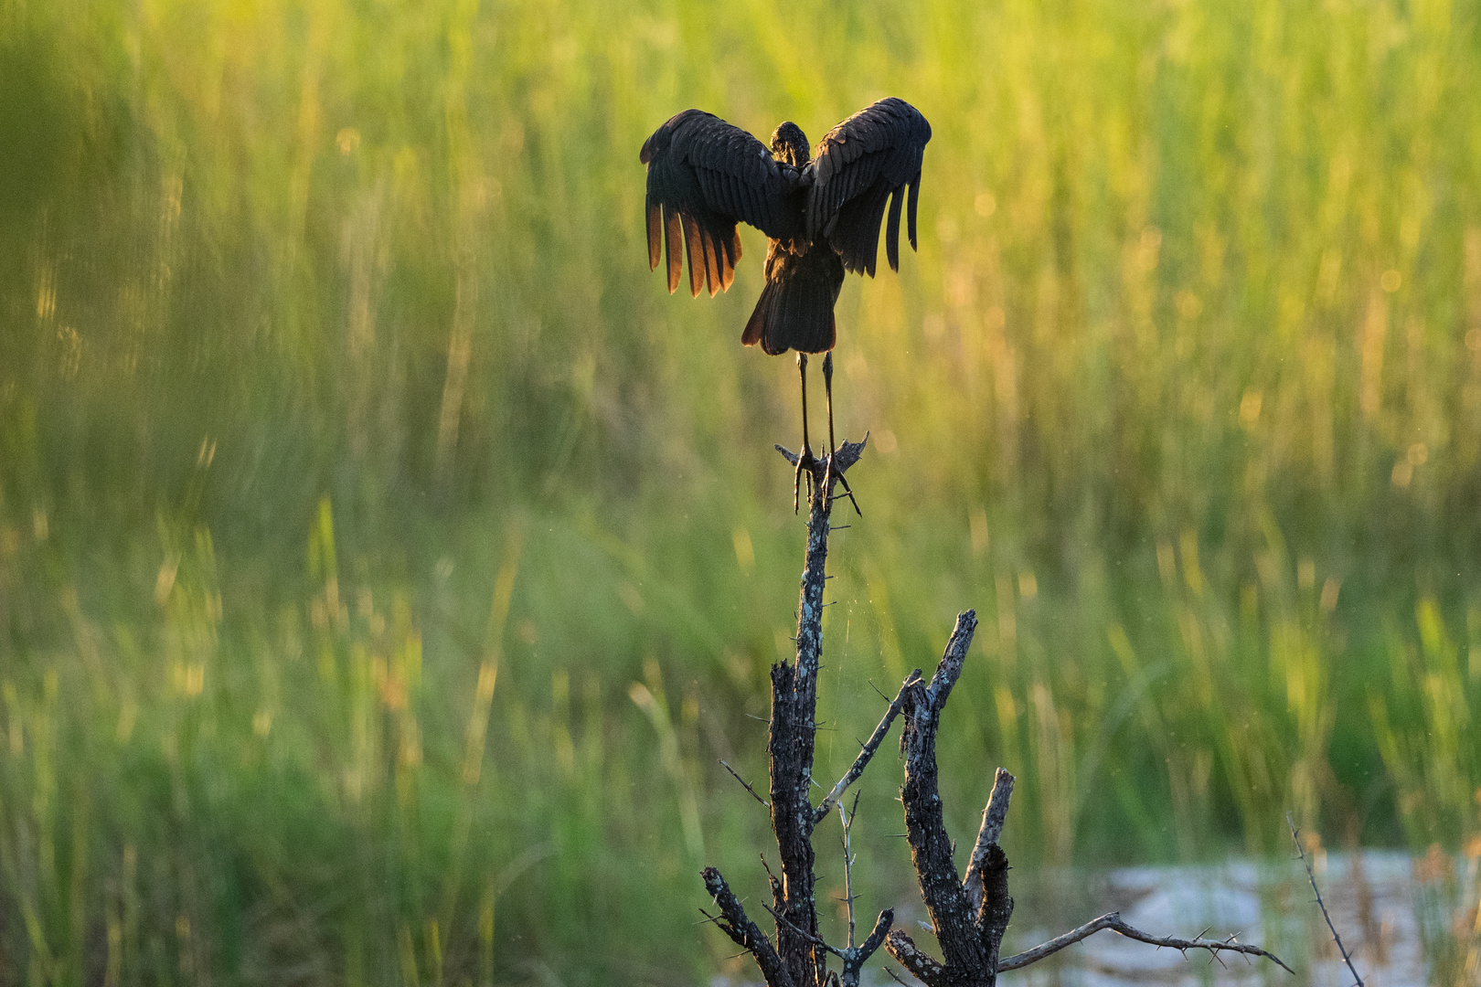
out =
[[[743,969],[795,370],[758,234],[646,269],[690,105],[935,129],[838,303],[820,777],[976,607],[948,818],[1014,771],[1020,875],[1459,848],[1478,70],[1448,0],[0,0],[0,984]]]

